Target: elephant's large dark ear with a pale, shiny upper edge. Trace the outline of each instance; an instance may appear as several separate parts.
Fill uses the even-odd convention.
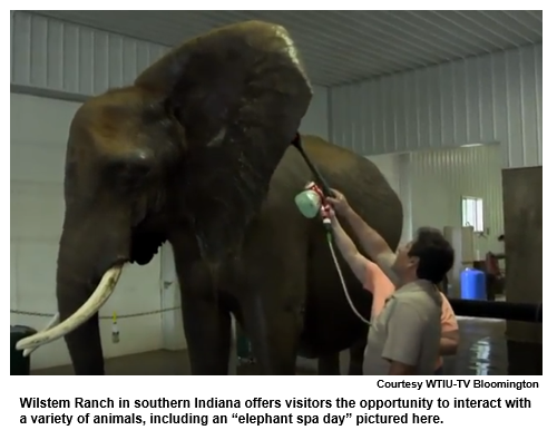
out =
[[[312,98],[287,31],[260,21],[217,29],[172,50],[135,86],[163,95],[183,126],[183,201],[207,251],[228,251],[261,209]]]

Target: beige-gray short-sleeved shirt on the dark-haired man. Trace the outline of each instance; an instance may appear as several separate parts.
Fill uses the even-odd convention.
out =
[[[433,374],[441,342],[441,296],[423,280],[403,285],[388,300],[370,332],[382,358]]]

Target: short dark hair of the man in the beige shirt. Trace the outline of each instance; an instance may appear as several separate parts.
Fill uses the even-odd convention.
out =
[[[451,244],[439,229],[430,227],[418,229],[408,255],[420,258],[416,271],[418,277],[433,284],[441,283],[455,264],[455,250]]]

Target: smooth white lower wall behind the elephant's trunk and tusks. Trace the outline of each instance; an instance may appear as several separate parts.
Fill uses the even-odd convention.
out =
[[[58,242],[63,221],[63,163],[71,118],[79,104],[10,95],[10,309],[55,313]],[[84,250],[86,252],[86,250]],[[160,310],[160,263],[128,266],[101,315]],[[168,304],[167,304],[168,305]],[[12,313],[11,324],[41,329],[48,317]],[[105,355],[163,346],[162,315],[118,321],[120,342],[111,343],[110,321],[101,321]],[[183,331],[176,326],[177,335]],[[167,334],[165,334],[167,336]],[[32,368],[69,363],[61,340],[33,353]]]

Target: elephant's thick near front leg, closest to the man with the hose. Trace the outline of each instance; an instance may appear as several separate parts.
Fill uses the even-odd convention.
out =
[[[306,253],[304,237],[289,245],[277,229],[254,237],[254,248],[243,263],[246,289],[240,300],[261,373],[295,374],[306,300]]]

